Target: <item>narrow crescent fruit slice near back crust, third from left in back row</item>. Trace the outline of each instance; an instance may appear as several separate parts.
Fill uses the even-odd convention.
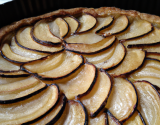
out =
[[[66,16],[63,19],[68,23],[70,28],[68,35],[74,34],[80,27],[80,22],[73,16]]]

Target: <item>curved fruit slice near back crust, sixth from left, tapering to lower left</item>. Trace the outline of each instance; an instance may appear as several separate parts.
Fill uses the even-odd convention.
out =
[[[114,19],[111,26],[101,30],[99,33],[103,34],[103,36],[107,37],[110,35],[118,34],[126,30],[129,25],[129,21],[127,16],[120,15],[116,19]]]

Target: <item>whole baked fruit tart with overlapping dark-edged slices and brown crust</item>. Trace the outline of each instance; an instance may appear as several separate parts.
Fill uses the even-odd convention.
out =
[[[160,123],[160,17],[58,10],[0,29],[1,125]]]

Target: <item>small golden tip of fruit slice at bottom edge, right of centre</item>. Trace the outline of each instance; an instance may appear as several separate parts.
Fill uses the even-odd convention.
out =
[[[134,114],[123,123],[123,125],[146,125],[144,119],[139,111],[135,111]]]

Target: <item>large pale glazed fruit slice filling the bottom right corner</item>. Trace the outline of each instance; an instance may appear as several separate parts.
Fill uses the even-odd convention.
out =
[[[147,81],[133,83],[138,94],[138,110],[147,125],[160,123],[160,97],[157,90]]]

